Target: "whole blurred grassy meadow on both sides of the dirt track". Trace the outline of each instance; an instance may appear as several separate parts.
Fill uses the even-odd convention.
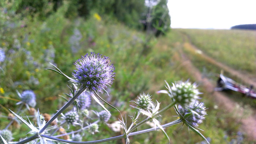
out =
[[[207,33],[208,30],[175,29],[170,30],[165,36],[155,38],[151,34],[131,29],[113,17],[99,15],[97,12],[84,20],[67,19],[64,16],[66,11],[68,11],[67,5],[63,5],[56,13],[45,20],[40,20],[37,16],[30,16],[26,11],[14,14],[12,7],[8,5],[6,8],[1,8],[0,48],[5,53],[5,60],[0,62],[0,129],[4,129],[10,122],[8,109],[19,108],[16,103],[20,98],[16,91],[21,93],[24,90],[33,90],[37,102],[35,109],[39,109],[42,114],[56,113],[56,110],[66,103],[65,93],[69,92],[68,79],[46,68],[54,68],[49,64],[51,62],[71,76],[75,69],[74,62],[86,53],[95,52],[110,57],[111,64],[116,67],[114,71],[116,77],[112,87],[107,89],[109,96],[102,95],[102,97],[114,107],[118,107],[129,123],[132,120],[128,115],[136,111],[129,107],[134,105],[130,101],[135,100],[139,94],[144,92],[152,95],[153,100],[161,102],[160,107],[163,107],[171,102],[167,100],[169,98],[167,95],[156,94],[156,91],[165,89],[164,80],[168,83],[187,79],[197,82],[193,75],[181,67],[182,63],[175,59],[177,52],[183,48],[184,33],[188,34],[191,41],[202,48],[203,52],[211,54],[218,61],[234,68],[239,67],[249,73],[256,69],[255,65],[243,60],[246,57],[250,61],[255,61],[255,54],[252,53],[256,52],[251,39],[251,35],[254,35],[252,32],[242,31],[237,34],[236,31],[211,30],[214,35],[210,34],[206,38],[202,33]],[[245,40],[249,42],[242,43]],[[236,46],[230,46],[225,42]],[[244,50],[236,52],[241,46]],[[249,50],[251,53],[248,52]],[[241,58],[239,61],[234,61],[232,56]],[[247,139],[245,133],[239,134],[239,120],[243,115],[229,113],[217,103],[213,103],[211,93],[204,90],[200,84],[199,90],[203,92],[200,101],[204,101],[208,108],[206,120],[199,125],[199,128],[204,130],[202,134],[211,139],[211,143],[224,144],[231,141],[253,143],[252,140]],[[105,106],[112,114],[109,124],[121,119],[120,113],[108,105]],[[91,102],[90,110],[101,111],[102,108],[96,102]],[[25,115],[30,115],[29,111],[25,111],[22,116]],[[173,117],[175,115],[177,114],[174,109],[167,110],[159,120],[165,124],[170,120],[177,120],[177,117]],[[143,128],[150,126],[145,125],[140,129]],[[27,134],[29,128],[22,123],[13,124],[9,129],[14,137],[12,141],[31,136]],[[71,129],[76,130],[72,125],[71,129],[67,127],[64,129],[66,132],[71,132]],[[174,144],[203,141],[202,137],[189,131],[187,126],[182,124],[166,128],[165,131]],[[82,139],[91,141],[120,134],[123,132],[113,132],[108,125],[100,123],[98,133],[86,133]],[[166,143],[167,139],[161,131],[155,131],[130,137],[130,141],[136,144],[153,144]],[[124,143],[124,140],[114,140],[112,143]]]

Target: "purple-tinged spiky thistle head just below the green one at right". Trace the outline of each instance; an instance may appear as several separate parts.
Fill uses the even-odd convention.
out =
[[[203,120],[205,119],[206,115],[206,107],[204,106],[203,102],[195,101],[191,103],[186,108],[182,107],[181,105],[178,106],[178,113],[180,113],[181,117],[184,117],[188,113],[195,113],[189,115],[187,118],[184,119],[184,123],[187,123],[193,127],[197,127],[198,124],[201,124]]]

